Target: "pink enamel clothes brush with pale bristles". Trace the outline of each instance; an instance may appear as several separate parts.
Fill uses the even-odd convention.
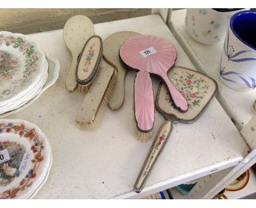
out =
[[[152,80],[146,71],[139,71],[135,77],[134,110],[137,138],[147,142],[153,137],[155,106]]]

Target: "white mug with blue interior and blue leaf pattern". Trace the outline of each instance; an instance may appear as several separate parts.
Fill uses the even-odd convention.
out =
[[[256,88],[256,11],[240,11],[230,19],[219,63],[220,80],[237,91]]]

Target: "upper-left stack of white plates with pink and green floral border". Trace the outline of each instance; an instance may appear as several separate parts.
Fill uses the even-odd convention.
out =
[[[54,70],[55,82],[59,75],[57,61]],[[42,94],[48,71],[49,60],[35,42],[22,34],[0,32],[0,117]]]

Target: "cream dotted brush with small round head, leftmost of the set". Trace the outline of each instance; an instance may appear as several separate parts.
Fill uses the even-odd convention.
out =
[[[75,81],[75,67],[77,65],[77,57],[82,51],[84,43],[94,35],[94,24],[83,15],[71,17],[63,28],[63,39],[66,46],[72,53],[72,64],[66,78],[66,88],[72,92],[77,87]]]

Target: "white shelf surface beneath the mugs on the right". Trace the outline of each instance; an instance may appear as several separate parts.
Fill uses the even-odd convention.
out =
[[[217,99],[229,117],[234,119],[237,129],[241,130],[255,114],[253,101],[256,99],[256,90],[240,92],[226,87],[220,81],[218,67],[223,44],[209,46],[191,38],[185,28],[186,10],[172,12],[171,30],[197,69],[217,81],[219,85]]]

